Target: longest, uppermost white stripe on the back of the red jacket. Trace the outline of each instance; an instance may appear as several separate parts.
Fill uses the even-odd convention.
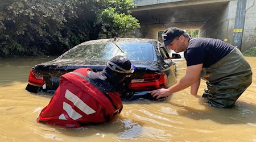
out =
[[[74,105],[79,108],[82,112],[84,112],[85,114],[89,115],[89,114],[93,114],[96,111],[93,110],[91,107],[89,107],[88,105],[86,105],[86,103],[84,103],[79,97],[77,97],[77,95],[73,94],[71,91],[69,91],[68,89],[66,90],[65,93],[65,98],[67,98],[69,101],[73,102]]]

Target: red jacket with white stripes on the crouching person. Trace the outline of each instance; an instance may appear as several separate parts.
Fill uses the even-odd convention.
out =
[[[76,69],[60,77],[60,84],[37,121],[64,127],[81,127],[109,121],[122,111],[117,92],[99,90],[87,77],[89,68]]]

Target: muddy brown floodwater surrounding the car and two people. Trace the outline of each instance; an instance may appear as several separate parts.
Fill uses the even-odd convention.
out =
[[[256,141],[256,57],[246,57],[253,83],[233,108],[213,108],[189,89],[156,102],[123,102],[111,122],[69,129],[37,123],[51,95],[25,90],[29,70],[53,57],[0,60],[0,141]],[[177,60],[177,78],[185,61]]]

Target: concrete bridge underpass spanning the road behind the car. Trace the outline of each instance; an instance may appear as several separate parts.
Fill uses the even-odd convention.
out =
[[[242,51],[256,46],[256,0],[134,0],[132,15],[141,23],[137,37],[158,38],[167,27],[199,30]]]

